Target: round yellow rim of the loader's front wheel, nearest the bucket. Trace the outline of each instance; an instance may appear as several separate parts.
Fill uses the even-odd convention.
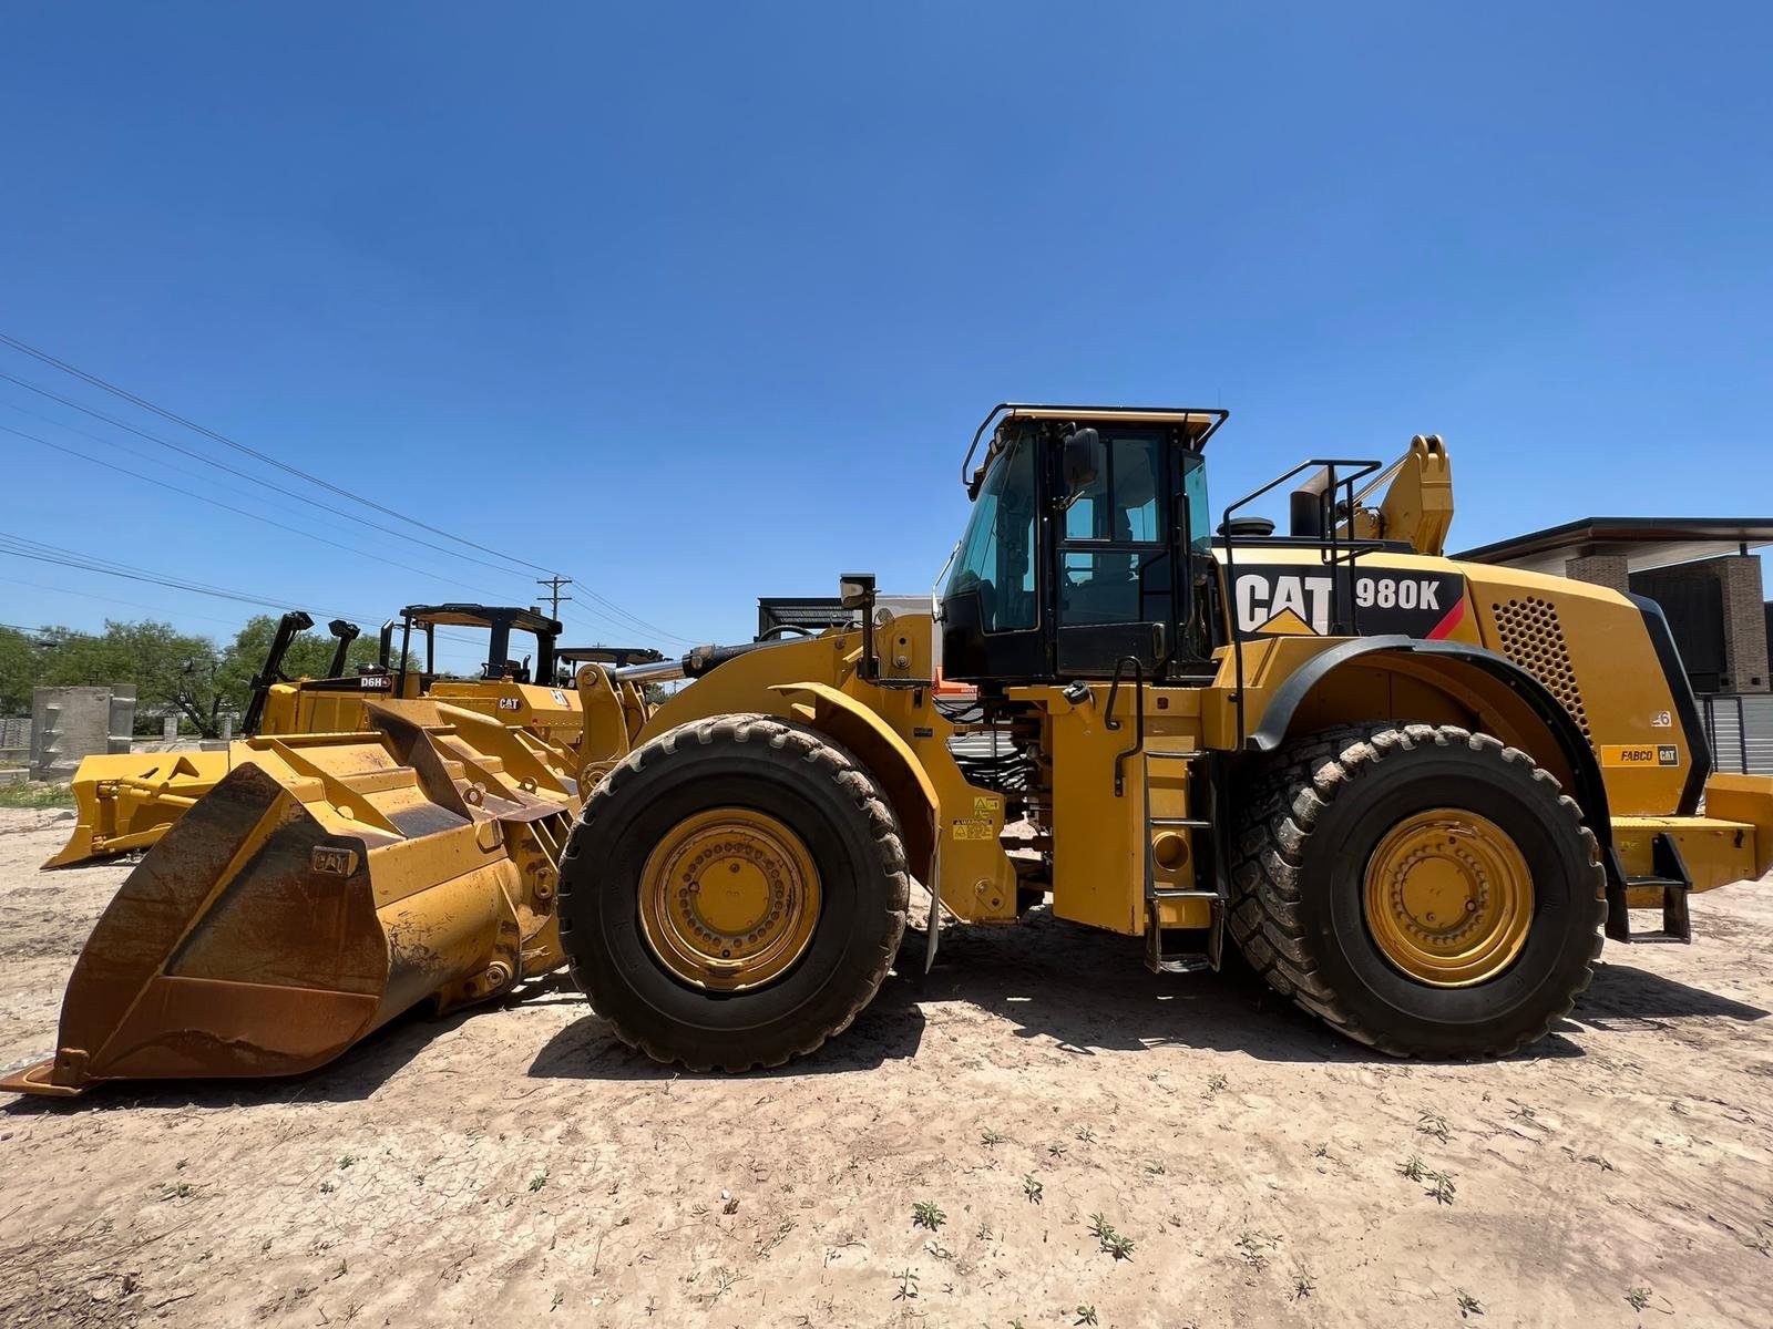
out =
[[[819,921],[819,870],[787,826],[750,808],[677,822],[640,870],[640,930],[695,987],[739,992],[780,978]]]

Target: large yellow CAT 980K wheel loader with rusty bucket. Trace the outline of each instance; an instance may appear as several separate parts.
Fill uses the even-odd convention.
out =
[[[1433,436],[1215,521],[1223,420],[998,406],[934,613],[844,576],[855,617],[819,636],[585,664],[583,785],[431,698],[238,764],[5,1086],[303,1070],[560,962],[652,1058],[780,1065],[872,999],[913,879],[926,968],[941,914],[1050,897],[1158,973],[1229,934],[1351,1038],[1502,1054],[1571,1010],[1603,936],[1688,941],[1691,891],[1768,870],[1773,780],[1711,774],[1652,602],[1445,558]],[[1287,486],[1280,533],[1252,509]],[[633,725],[624,695],[665,679],[690,682]]]

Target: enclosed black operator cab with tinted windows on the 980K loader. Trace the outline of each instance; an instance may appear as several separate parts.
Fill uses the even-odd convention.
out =
[[[957,682],[1202,673],[1211,569],[1202,445],[1225,411],[998,406],[941,595]],[[995,424],[995,429],[993,429]]]

